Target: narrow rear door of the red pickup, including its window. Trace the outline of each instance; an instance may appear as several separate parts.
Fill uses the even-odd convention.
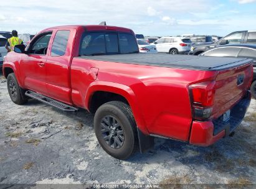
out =
[[[49,97],[71,104],[70,63],[76,29],[55,30],[46,62]]]

